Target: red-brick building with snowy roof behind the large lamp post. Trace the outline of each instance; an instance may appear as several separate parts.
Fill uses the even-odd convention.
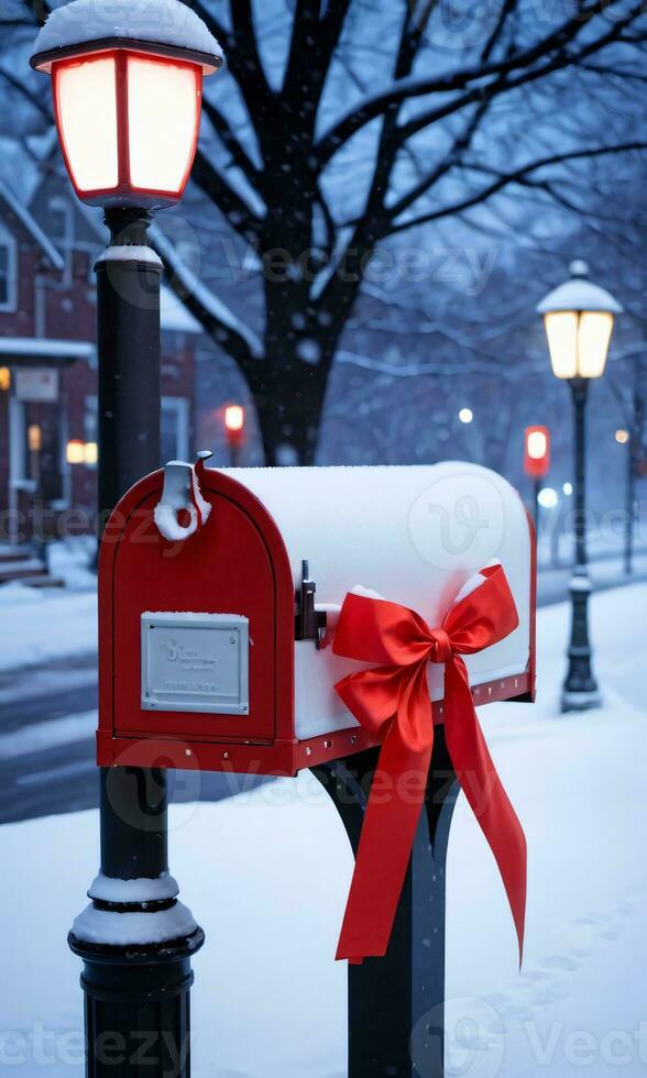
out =
[[[94,264],[107,233],[100,213],[79,204],[57,170],[42,175],[26,205],[0,179],[0,541],[10,542],[42,527],[39,507],[47,528],[68,520],[77,534],[95,515]],[[200,338],[199,324],[163,286],[163,460],[194,449]]]

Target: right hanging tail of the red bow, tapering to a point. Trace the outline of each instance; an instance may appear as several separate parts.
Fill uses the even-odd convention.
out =
[[[498,778],[476,717],[468,671],[461,658],[445,673],[445,732],[461,788],[494,855],[524,954],[526,836]]]

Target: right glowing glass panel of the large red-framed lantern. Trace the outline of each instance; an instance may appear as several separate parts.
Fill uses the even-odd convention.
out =
[[[194,162],[200,120],[199,67],[128,58],[130,183],[180,195]]]

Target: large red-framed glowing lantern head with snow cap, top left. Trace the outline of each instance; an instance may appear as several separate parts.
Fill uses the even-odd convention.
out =
[[[164,0],[164,9],[168,18],[157,11],[155,26],[141,4],[74,0],[50,15],[36,38],[31,65],[52,75],[67,172],[90,205],[150,208],[182,198],[196,154],[202,77],[218,70],[222,53],[179,0]],[[161,25],[169,26],[168,41],[146,40]]]

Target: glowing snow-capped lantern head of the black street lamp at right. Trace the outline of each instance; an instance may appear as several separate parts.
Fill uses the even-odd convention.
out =
[[[605,288],[589,279],[589,267],[571,262],[571,277],[539,304],[552,373],[558,378],[599,378],[604,373],[614,316],[622,311]]]

